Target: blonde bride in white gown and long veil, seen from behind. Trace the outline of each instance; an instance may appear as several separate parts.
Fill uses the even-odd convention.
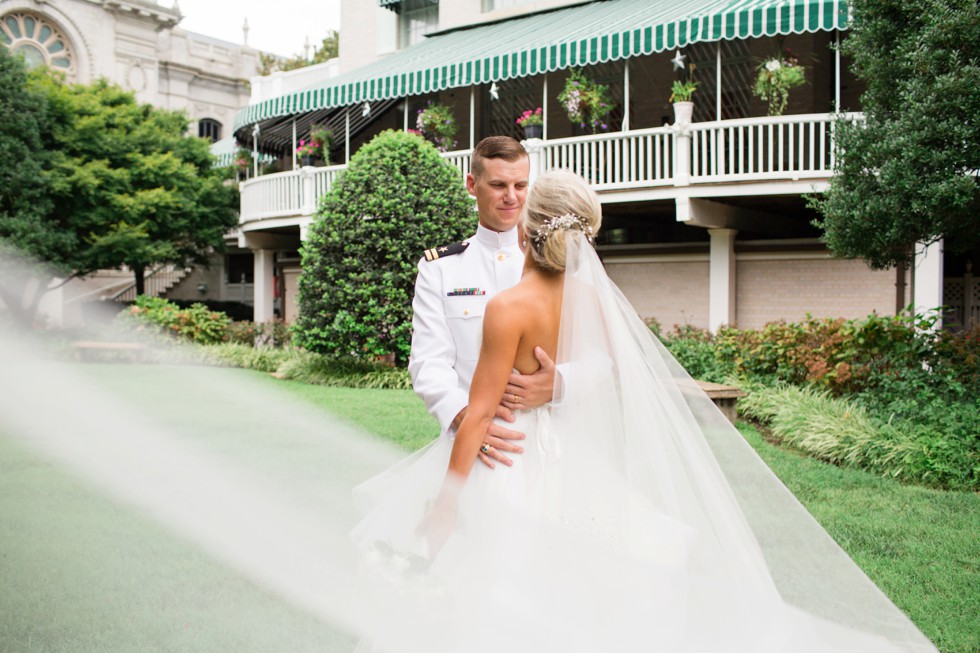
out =
[[[535,181],[455,439],[355,491],[360,648],[934,651],[642,323],[593,249],[600,222],[581,177]],[[508,425],[527,436],[513,466],[475,466],[536,345],[559,399]]]

